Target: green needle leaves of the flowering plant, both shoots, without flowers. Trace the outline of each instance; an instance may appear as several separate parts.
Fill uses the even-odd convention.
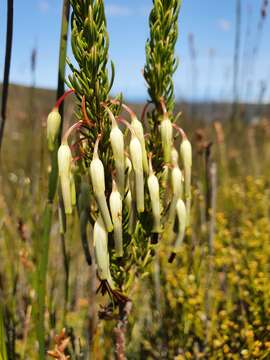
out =
[[[106,29],[104,4],[103,1],[71,1],[71,5],[73,8],[71,42],[78,69],[73,66],[70,61],[68,61],[72,71],[72,74],[69,76],[69,86],[74,88],[75,95],[77,97],[76,117],[78,120],[82,121],[80,136],[83,138],[83,146],[80,146],[76,153],[76,155],[82,159],[81,161],[78,161],[78,169],[76,171],[78,183],[77,192],[78,194],[80,193],[79,184],[81,181],[86,181],[86,183],[88,182],[88,180],[86,180],[86,176],[90,162],[93,158],[94,144],[97,136],[101,134],[102,137],[99,142],[98,154],[104,166],[106,178],[105,195],[108,202],[108,198],[112,190],[111,174],[114,172],[115,164],[110,144],[110,132],[112,130],[111,119],[108,116],[108,112],[105,110],[105,105],[112,111],[114,116],[117,117],[121,109],[121,102],[112,102],[109,99],[109,92],[113,84],[114,71],[112,65],[112,79],[109,81],[107,70],[109,40]],[[162,83],[162,86],[164,87],[160,88],[161,92],[157,94],[153,101],[156,100],[159,107],[161,106],[161,101],[163,101],[164,106],[169,106],[171,111],[173,110],[174,105],[172,66],[176,65],[176,60],[174,59],[174,46],[177,39],[177,18],[179,7],[179,1],[173,3],[154,3],[154,9],[150,16],[150,23],[153,27],[159,26],[157,29],[159,37],[155,37],[156,31],[154,28],[151,28],[148,46],[149,58],[147,59],[146,65],[147,76],[149,79],[152,79],[149,82],[149,88],[153,89],[151,94],[155,93],[155,84]],[[162,20],[160,23],[163,16],[165,16],[165,20]],[[155,17],[157,18],[156,20]],[[156,21],[159,22],[159,25]],[[169,26],[168,23],[170,23]],[[169,46],[167,46],[168,44],[166,45],[167,41],[169,42]],[[160,59],[161,63],[159,65],[162,66],[163,63],[167,64],[161,78],[156,73],[156,68],[152,66],[156,56],[156,43],[159,44],[159,42],[162,43],[162,59]],[[164,111],[166,112],[166,110],[164,110],[164,106],[162,107],[162,113],[164,113]],[[160,130],[158,129],[157,123],[154,122],[149,122],[148,130],[149,136],[145,139],[146,149],[153,153],[155,172],[158,178],[161,179],[164,158],[162,153]],[[129,144],[131,141],[129,132],[124,132],[124,136],[125,143]],[[129,148],[127,146],[126,152],[128,151]],[[146,161],[148,161],[148,159],[146,159]],[[147,175],[148,174],[146,172],[145,183]],[[127,178],[126,183],[128,184]],[[91,189],[91,202],[95,204],[93,186],[89,184],[89,187]],[[161,190],[161,193],[164,197],[164,189]],[[125,196],[126,195],[127,193]],[[124,256],[121,259],[117,258],[115,255],[113,237],[109,234],[108,244],[112,278],[117,288],[124,291],[129,291],[131,289],[131,285],[133,284],[136,276],[141,276],[141,274],[148,271],[148,264],[151,263],[154,254],[154,246],[151,243],[151,238],[153,236],[152,209],[149,194],[147,192],[147,184],[145,184],[144,196],[145,210],[142,214],[136,213],[136,223],[131,234],[128,229],[128,222],[131,215],[130,211],[127,210],[127,207],[124,206]],[[124,198],[123,204],[125,200],[126,199]],[[134,201],[135,199],[133,199],[133,202]],[[92,225],[94,225],[97,219],[97,210],[97,206],[91,206],[90,222]],[[166,214],[166,212],[167,207],[164,207],[162,215]],[[159,235],[156,234],[156,236],[158,237]]]

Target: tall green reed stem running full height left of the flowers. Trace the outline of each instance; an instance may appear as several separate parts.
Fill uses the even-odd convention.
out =
[[[69,0],[63,0],[63,13],[62,13],[62,25],[61,25],[61,37],[60,37],[60,50],[59,50],[59,71],[58,71],[58,87],[57,98],[64,93],[64,81],[65,81],[65,59],[67,51],[67,34],[69,23]],[[49,244],[50,244],[50,232],[52,225],[53,215],[53,200],[55,198],[57,190],[58,179],[58,164],[57,164],[57,151],[61,143],[62,128],[63,128],[63,105],[59,108],[59,112],[62,115],[61,131],[57,140],[57,146],[52,153],[51,157],[51,172],[49,175],[48,184],[48,200],[43,215],[43,233],[41,237],[41,243],[38,246],[38,267],[37,267],[37,338],[39,343],[39,359],[45,360],[45,298],[46,298],[46,278],[48,268],[48,256],[49,256]]]

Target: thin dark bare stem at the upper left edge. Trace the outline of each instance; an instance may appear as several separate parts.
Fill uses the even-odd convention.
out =
[[[13,0],[8,0],[7,1],[6,56],[5,56],[4,80],[3,80],[3,88],[2,88],[2,105],[1,105],[1,122],[0,122],[0,150],[1,150],[1,146],[2,146],[4,127],[5,127],[5,122],[6,122],[12,39],[13,39]]]

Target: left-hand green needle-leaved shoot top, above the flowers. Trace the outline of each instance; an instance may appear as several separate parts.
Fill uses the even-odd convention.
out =
[[[104,125],[102,102],[108,99],[114,81],[114,65],[111,63],[111,79],[108,75],[109,37],[106,27],[103,0],[70,1],[73,8],[71,46],[79,68],[68,61],[72,74],[69,86],[75,89],[78,104],[86,99],[86,111],[96,125],[96,136]],[[82,118],[81,110],[77,116]]]

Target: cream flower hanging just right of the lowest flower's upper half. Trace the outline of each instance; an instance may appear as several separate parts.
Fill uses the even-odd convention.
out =
[[[110,196],[110,210],[113,222],[113,236],[116,256],[123,256],[123,231],[122,231],[122,198],[113,181],[113,191]]]

